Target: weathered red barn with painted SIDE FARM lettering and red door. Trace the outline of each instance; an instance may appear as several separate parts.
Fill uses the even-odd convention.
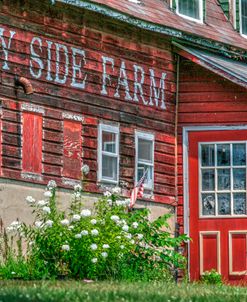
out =
[[[90,173],[175,213],[190,278],[247,271],[247,2],[0,2],[0,216],[56,180]],[[88,197],[90,196],[90,197]]]

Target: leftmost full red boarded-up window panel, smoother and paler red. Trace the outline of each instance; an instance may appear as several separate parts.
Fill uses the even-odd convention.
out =
[[[23,172],[42,173],[42,115],[23,112],[22,169]]]

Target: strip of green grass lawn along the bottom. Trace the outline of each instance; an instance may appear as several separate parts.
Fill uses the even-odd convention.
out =
[[[0,302],[247,301],[247,288],[201,284],[0,281]]]

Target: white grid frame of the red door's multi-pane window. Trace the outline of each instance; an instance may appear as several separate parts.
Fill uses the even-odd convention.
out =
[[[201,146],[202,145],[215,145],[215,148],[217,145],[220,145],[220,144],[230,144],[230,150],[231,150],[231,155],[232,155],[232,145],[233,144],[245,144],[246,145],[246,164],[243,165],[243,166],[234,166],[232,164],[232,159],[233,157],[230,158],[230,165],[229,166],[220,166],[220,168],[218,168],[217,166],[217,162],[216,162],[216,153],[214,154],[214,157],[215,157],[215,165],[213,167],[202,167],[202,159],[201,159]],[[200,219],[204,219],[204,218],[207,218],[207,219],[217,219],[217,218],[246,218],[247,217],[247,198],[246,198],[246,214],[234,214],[234,210],[233,210],[233,199],[232,199],[232,195],[233,193],[245,193],[246,196],[247,196],[247,189],[245,190],[234,190],[233,189],[233,169],[234,168],[239,168],[239,169],[246,169],[246,178],[247,178],[247,141],[245,140],[242,140],[242,141],[210,141],[210,142],[200,142],[198,144],[198,161],[199,161],[199,165],[198,165],[198,168],[199,168],[199,218]],[[217,188],[217,173],[215,173],[215,184],[216,184],[216,187],[215,187],[215,190],[214,190],[214,194],[216,196],[215,198],[215,215],[203,215],[202,214],[202,198],[201,198],[201,194],[202,193],[211,193],[211,191],[203,191],[202,190],[202,170],[203,169],[214,169],[215,171],[217,169],[230,169],[230,178],[231,178],[231,188],[229,190],[218,190]],[[246,179],[246,185],[247,185],[247,179]],[[230,199],[230,209],[231,209],[231,214],[227,214],[227,215],[222,215],[222,214],[218,214],[218,202],[217,202],[217,193],[230,193],[231,195],[231,199]]]

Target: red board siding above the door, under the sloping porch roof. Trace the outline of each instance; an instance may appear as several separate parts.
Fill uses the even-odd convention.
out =
[[[178,105],[178,221],[183,226],[182,127],[247,124],[246,89],[182,59]]]

